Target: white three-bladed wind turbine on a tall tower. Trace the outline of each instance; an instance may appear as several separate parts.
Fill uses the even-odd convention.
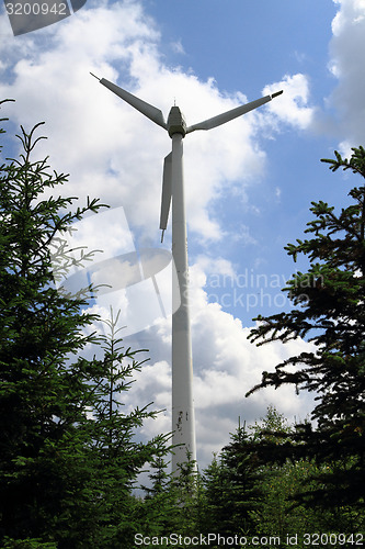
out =
[[[166,122],[162,112],[156,107],[146,103],[105,78],[98,78],[92,72],[91,75],[105,86],[105,88],[109,88],[137,111],[163,127],[163,130],[167,130],[172,139],[172,152],[164,158],[163,166],[160,228],[162,229],[162,242],[163,232],[168,225],[172,198],[172,258],[178,273],[178,283],[172,284],[172,311],[175,311],[172,314],[172,444],[180,445],[172,453],[172,472],[178,474],[178,464],[186,461],[187,452],[192,460],[196,460],[183,180],[183,138],[186,134],[196,130],[212,130],[253,111],[283,93],[283,90],[242,104],[192,126],[186,126],[179,107],[174,105],[171,108],[168,121]]]

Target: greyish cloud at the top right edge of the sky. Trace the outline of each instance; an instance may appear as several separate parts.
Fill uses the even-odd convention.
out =
[[[347,153],[365,142],[365,2],[334,0],[339,11],[332,21],[330,69],[338,85],[329,101],[341,124],[342,149]]]

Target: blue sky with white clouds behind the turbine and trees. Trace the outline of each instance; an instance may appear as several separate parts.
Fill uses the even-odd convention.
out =
[[[0,13],[0,94],[16,100],[5,112],[8,147],[15,147],[19,124],[46,122],[38,156],[70,173],[62,192],[112,206],[113,215],[80,229],[103,259],[161,246],[162,160],[171,143],[89,71],[166,115],[175,100],[189,124],[284,90],[253,113],[184,141],[201,466],[227,444],[238,416],[252,423],[273,403],[303,419],[312,408],[310,396],[290,388],[244,399],[263,370],[310,345],[256,348],[247,335],[254,316],[288,306],[281,287],[306,261],[293,264],[283,248],[303,235],[310,202],[343,205],[354,184],[354,176],[332,175],[320,158],[365,143],[364,46],[364,0],[89,0],[62,22],[16,37]],[[162,248],[170,245],[168,227]],[[169,276],[160,277],[169,293]],[[146,282],[112,298],[126,324],[133,315],[149,324],[126,334],[150,357],[127,407],[153,401],[166,408],[146,436],[171,424],[171,317],[158,317],[148,292]],[[104,315],[106,305],[92,304]]]

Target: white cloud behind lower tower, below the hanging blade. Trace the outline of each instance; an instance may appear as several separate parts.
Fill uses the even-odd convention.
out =
[[[197,455],[206,466],[213,452],[229,441],[238,418],[247,424],[265,415],[270,404],[290,421],[305,419],[312,408],[312,399],[295,393],[293,388],[265,390],[246,399],[244,394],[260,382],[261,372],[304,350],[309,345],[300,339],[286,345],[271,344],[255,347],[248,340],[250,329],[238,318],[226,313],[218,303],[209,303],[206,292],[206,270],[228,273],[232,266],[221,259],[199,258],[191,268],[192,335],[194,361],[194,403],[197,435]],[[169,430],[171,426],[170,320],[159,320],[148,332],[156,362],[148,363],[137,374],[127,403],[153,401],[163,411],[157,422],[149,422],[146,434]]]

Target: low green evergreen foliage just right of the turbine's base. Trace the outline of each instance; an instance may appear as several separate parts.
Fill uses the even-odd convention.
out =
[[[256,547],[258,537],[267,539],[269,536],[280,538],[280,547],[290,547],[290,544],[285,542],[287,536],[292,539],[297,536],[295,547],[305,549],[308,546],[305,534],[337,533],[343,537],[344,533],[351,536],[363,530],[364,508],[338,505],[318,513],[316,506],[308,505],[306,501],[295,501],[303,486],[316,497],[319,489],[317,478],[328,472],[331,466],[296,458],[295,452],[290,459],[285,458],[283,448],[298,444],[293,441],[295,426],[288,425],[274,406],[269,406],[265,417],[249,427],[249,433],[243,437],[241,430],[239,426],[219,459],[216,456],[205,470],[205,512],[207,519],[212,520],[207,523],[209,531],[242,535],[247,539],[244,547]],[[275,452],[275,448],[280,451]],[[221,458],[227,451],[233,456],[236,463],[243,466],[247,481],[241,483],[239,490],[239,483],[235,481],[226,484],[221,482],[223,478],[235,473],[235,467],[228,471],[225,469],[226,460]],[[232,514],[235,520],[229,524]],[[253,537],[255,542],[251,544]],[[343,541],[331,542],[331,546],[343,547]]]

